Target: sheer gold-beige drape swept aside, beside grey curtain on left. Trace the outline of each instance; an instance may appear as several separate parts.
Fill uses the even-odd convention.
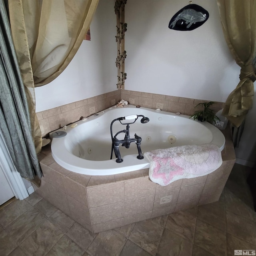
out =
[[[35,115],[34,87],[48,84],[68,66],[86,35],[98,1],[8,1],[37,153],[41,151],[42,135]]]

